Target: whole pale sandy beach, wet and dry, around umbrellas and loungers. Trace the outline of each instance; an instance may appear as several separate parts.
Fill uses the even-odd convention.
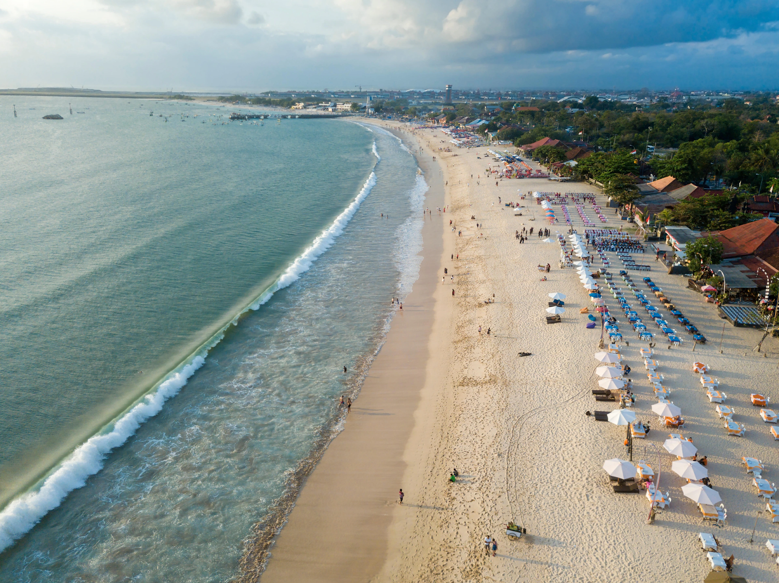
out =
[[[776,581],[779,567],[765,543],[779,539],[779,531],[770,516],[759,514],[765,503],[741,465],[742,455],[749,455],[766,462],[763,476],[769,481],[777,472],[770,426],[749,402],[751,392],[777,396],[776,339],[763,343],[763,353],[753,352],[760,332],[730,324],[723,332],[714,306],[686,289],[685,278],[669,276],[654,255],[646,255],[654,281],[709,339],[694,353],[688,335],[672,349],[658,339],[654,350],[671,400],[686,418],[683,433],[708,456],[710,479],[728,508],[720,528],[702,522],[696,505],[682,495],[686,482],[670,471],[674,458],[661,448],[669,430],[661,429],[650,411],[656,399],[639,353],[647,342],[613,311],[629,343],[622,355],[633,368],[635,411],[653,427],[646,440],[634,442],[633,459],[646,459],[655,472],[661,460],[661,490],[672,499],[654,525],[647,525],[643,492],[613,493],[601,469],[608,458],[626,458],[625,428],[584,414],[615,409],[590,394],[597,388],[592,355],[600,331],[585,328],[587,316],[579,314],[580,307],[591,306],[589,297],[573,269],[558,269],[556,243],[533,236],[520,244],[514,238],[523,226],[549,227],[541,207],[529,196],[520,201],[519,191],[597,189],[545,179],[495,185],[495,178],[483,178],[487,164],[495,165],[485,148],[442,153],[438,148],[449,145],[442,132],[412,135],[407,127],[395,127],[410,147],[417,142],[423,149],[418,157],[431,185],[425,205],[434,212],[425,223],[425,261],[408,300],[418,311],[404,305],[404,318],[393,321],[343,433],[301,491],[263,581],[695,581],[710,571],[698,532],[713,533],[724,555],[735,555],[734,574]],[[441,181],[448,182],[449,209],[441,216],[435,212],[442,203],[435,202],[438,170],[431,156],[438,159]],[[515,216],[499,204],[499,196],[530,208]],[[605,207],[602,195],[599,201],[608,217],[605,226],[626,224]],[[570,212],[582,233],[573,205]],[[567,230],[565,224],[549,228],[553,235]],[[451,260],[452,254],[459,259]],[[619,271],[610,255],[612,272]],[[547,263],[552,271],[541,282],[544,274],[536,265]],[[454,273],[453,286],[448,275],[447,285],[441,284],[445,267]],[[560,324],[545,321],[551,292],[567,294]],[[495,303],[485,304],[493,293]],[[480,325],[491,334],[479,335]],[[520,352],[532,356],[518,357]],[[726,435],[692,371],[693,360],[709,364],[719,378],[746,436]],[[449,483],[454,467],[460,480]],[[407,494],[402,506],[396,503],[399,487]],[[527,529],[523,539],[506,537],[503,525],[512,519]],[[499,543],[497,557],[485,556],[481,541],[487,535]]]

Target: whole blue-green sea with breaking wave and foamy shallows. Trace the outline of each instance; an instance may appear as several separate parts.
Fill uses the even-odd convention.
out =
[[[2,581],[240,578],[411,291],[400,141],[234,109],[0,97]]]

